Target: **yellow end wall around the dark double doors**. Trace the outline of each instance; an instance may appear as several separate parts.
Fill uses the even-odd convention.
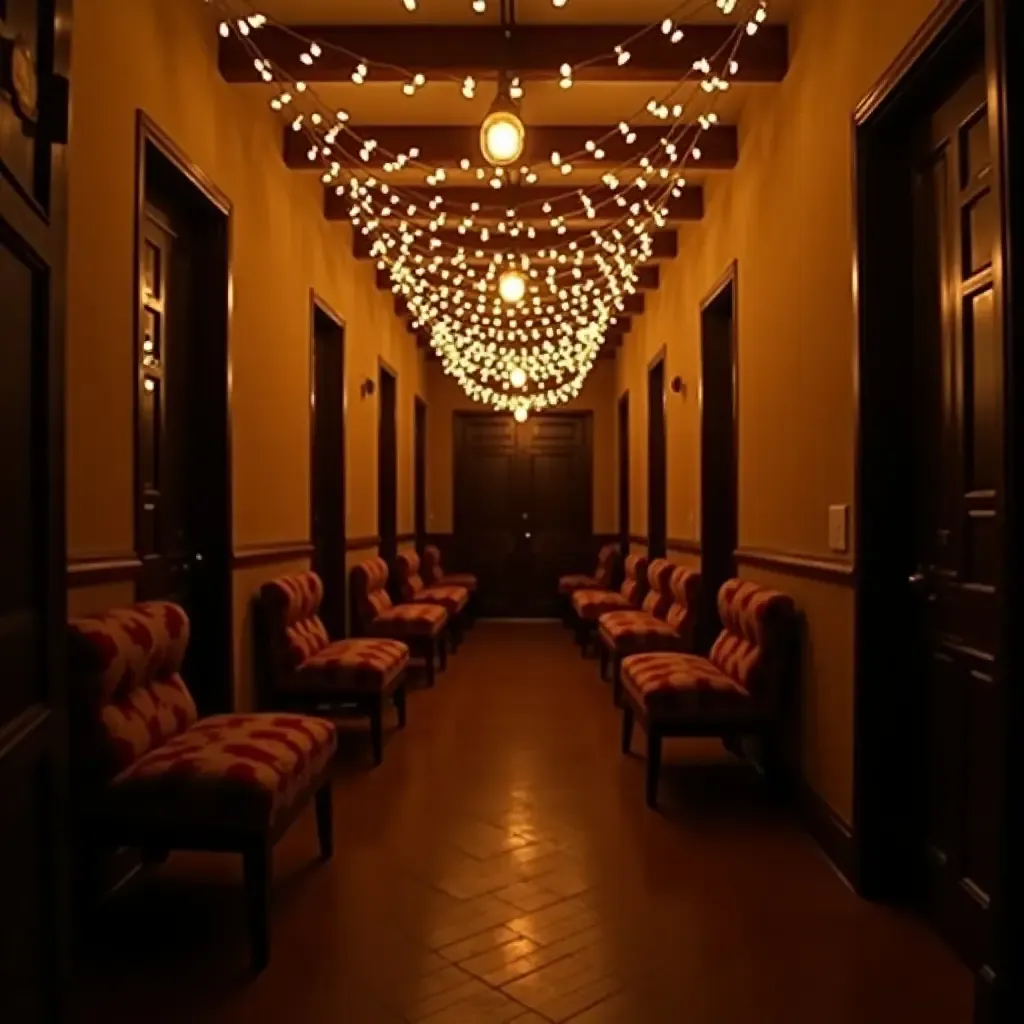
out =
[[[457,412],[486,412],[486,407],[469,398],[436,360],[428,361],[426,379],[427,531],[450,534],[453,529],[453,417]],[[613,534],[618,528],[614,362],[598,359],[579,397],[560,406],[559,410],[594,414],[594,532]]]

